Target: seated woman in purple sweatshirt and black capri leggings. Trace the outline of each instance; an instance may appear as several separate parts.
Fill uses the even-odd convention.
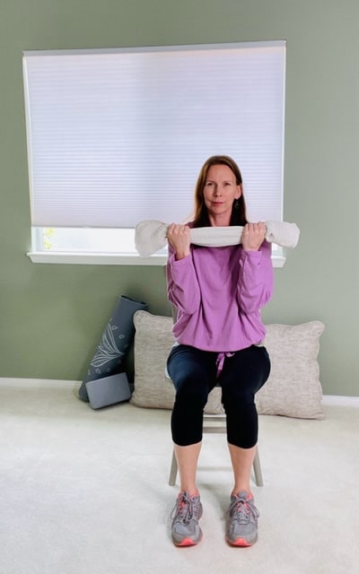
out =
[[[190,227],[243,226],[241,245],[203,248],[190,244]],[[194,221],[172,223],[167,231],[168,297],[177,309],[176,344],[167,369],[176,389],[171,433],[180,472],[180,494],[171,535],[178,546],[197,544],[202,504],[197,490],[197,460],[208,393],[222,387],[233,489],[226,540],[235,546],[257,541],[258,510],[250,473],[258,440],[254,396],[270,371],[260,309],[273,291],[266,226],[249,223],[241,171],[228,156],[214,156],[197,179]]]

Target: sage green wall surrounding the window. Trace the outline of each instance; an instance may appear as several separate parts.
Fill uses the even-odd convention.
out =
[[[358,396],[357,0],[0,0],[0,11],[0,377],[80,380],[120,294],[170,314],[161,268],[25,256],[22,50],[286,39],[285,220],[302,235],[264,319],[323,321],[324,393]]]

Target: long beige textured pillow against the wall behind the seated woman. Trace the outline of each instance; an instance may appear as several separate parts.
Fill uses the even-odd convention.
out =
[[[139,310],[134,325],[135,386],[130,402],[140,407],[171,409],[175,391],[171,379],[165,376],[165,366],[174,343],[172,318]],[[266,328],[271,372],[256,395],[258,413],[323,419],[318,354],[324,325],[311,321]],[[205,413],[223,413],[220,387],[210,393]]]

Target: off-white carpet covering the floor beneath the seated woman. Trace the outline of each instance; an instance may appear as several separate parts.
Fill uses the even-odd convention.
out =
[[[224,542],[223,435],[198,468],[204,539],[175,548],[168,411],[92,411],[59,381],[0,379],[0,574],[348,574],[359,571],[359,409],[260,417],[258,544]]]

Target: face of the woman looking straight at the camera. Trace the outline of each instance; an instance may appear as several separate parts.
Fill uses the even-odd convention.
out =
[[[241,186],[231,168],[226,165],[213,165],[209,168],[203,197],[212,225],[229,225],[234,199],[241,197]]]

